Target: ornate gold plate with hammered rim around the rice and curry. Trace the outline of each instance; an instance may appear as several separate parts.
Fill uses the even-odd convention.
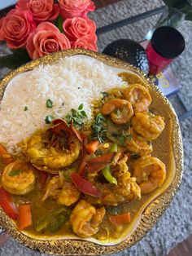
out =
[[[177,115],[168,99],[141,70],[121,60],[83,49],[59,51],[53,55],[46,55],[41,59],[33,60],[8,73],[0,82],[0,99],[3,97],[3,92],[7,84],[18,74],[37,68],[39,65],[55,64],[60,58],[72,55],[87,55],[115,68],[114,70],[116,72],[129,72],[130,79],[133,79],[134,82],[142,83],[149,88],[153,99],[151,108],[164,117],[166,124],[163,134],[153,144],[155,157],[159,157],[164,161],[167,167],[166,180],[161,188],[158,188],[150,196],[144,198],[129,229],[119,239],[116,239],[116,241],[98,241],[94,238],[80,239],[77,236],[33,236],[28,232],[19,232],[15,227],[15,223],[11,218],[7,217],[2,209],[0,209],[0,223],[16,241],[28,246],[30,249],[46,254],[98,255],[116,253],[140,241],[155,225],[177,192],[183,172],[181,130]]]

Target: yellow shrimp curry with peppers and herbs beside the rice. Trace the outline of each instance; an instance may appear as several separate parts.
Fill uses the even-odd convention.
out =
[[[134,202],[164,183],[165,165],[151,157],[164,117],[152,113],[146,86],[102,95],[93,121],[81,104],[21,141],[17,157],[0,147],[0,205],[20,231],[116,239],[137,213]]]

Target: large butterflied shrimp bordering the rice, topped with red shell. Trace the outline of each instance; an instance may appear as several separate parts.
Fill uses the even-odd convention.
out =
[[[44,136],[45,131],[39,130],[19,144],[26,159],[34,165],[46,167],[45,171],[55,174],[60,168],[70,166],[79,157],[81,143],[76,137],[73,136],[69,149],[59,151],[54,147],[46,148]]]

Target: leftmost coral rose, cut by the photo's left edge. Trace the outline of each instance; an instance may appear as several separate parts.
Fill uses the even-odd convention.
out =
[[[17,49],[26,45],[28,35],[36,24],[30,11],[13,9],[0,22],[0,40],[7,42],[7,47]]]

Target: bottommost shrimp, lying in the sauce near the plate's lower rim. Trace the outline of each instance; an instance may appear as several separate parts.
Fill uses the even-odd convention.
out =
[[[93,236],[98,232],[98,226],[102,223],[105,212],[104,207],[96,209],[85,200],[79,201],[69,219],[73,232],[80,237]]]

